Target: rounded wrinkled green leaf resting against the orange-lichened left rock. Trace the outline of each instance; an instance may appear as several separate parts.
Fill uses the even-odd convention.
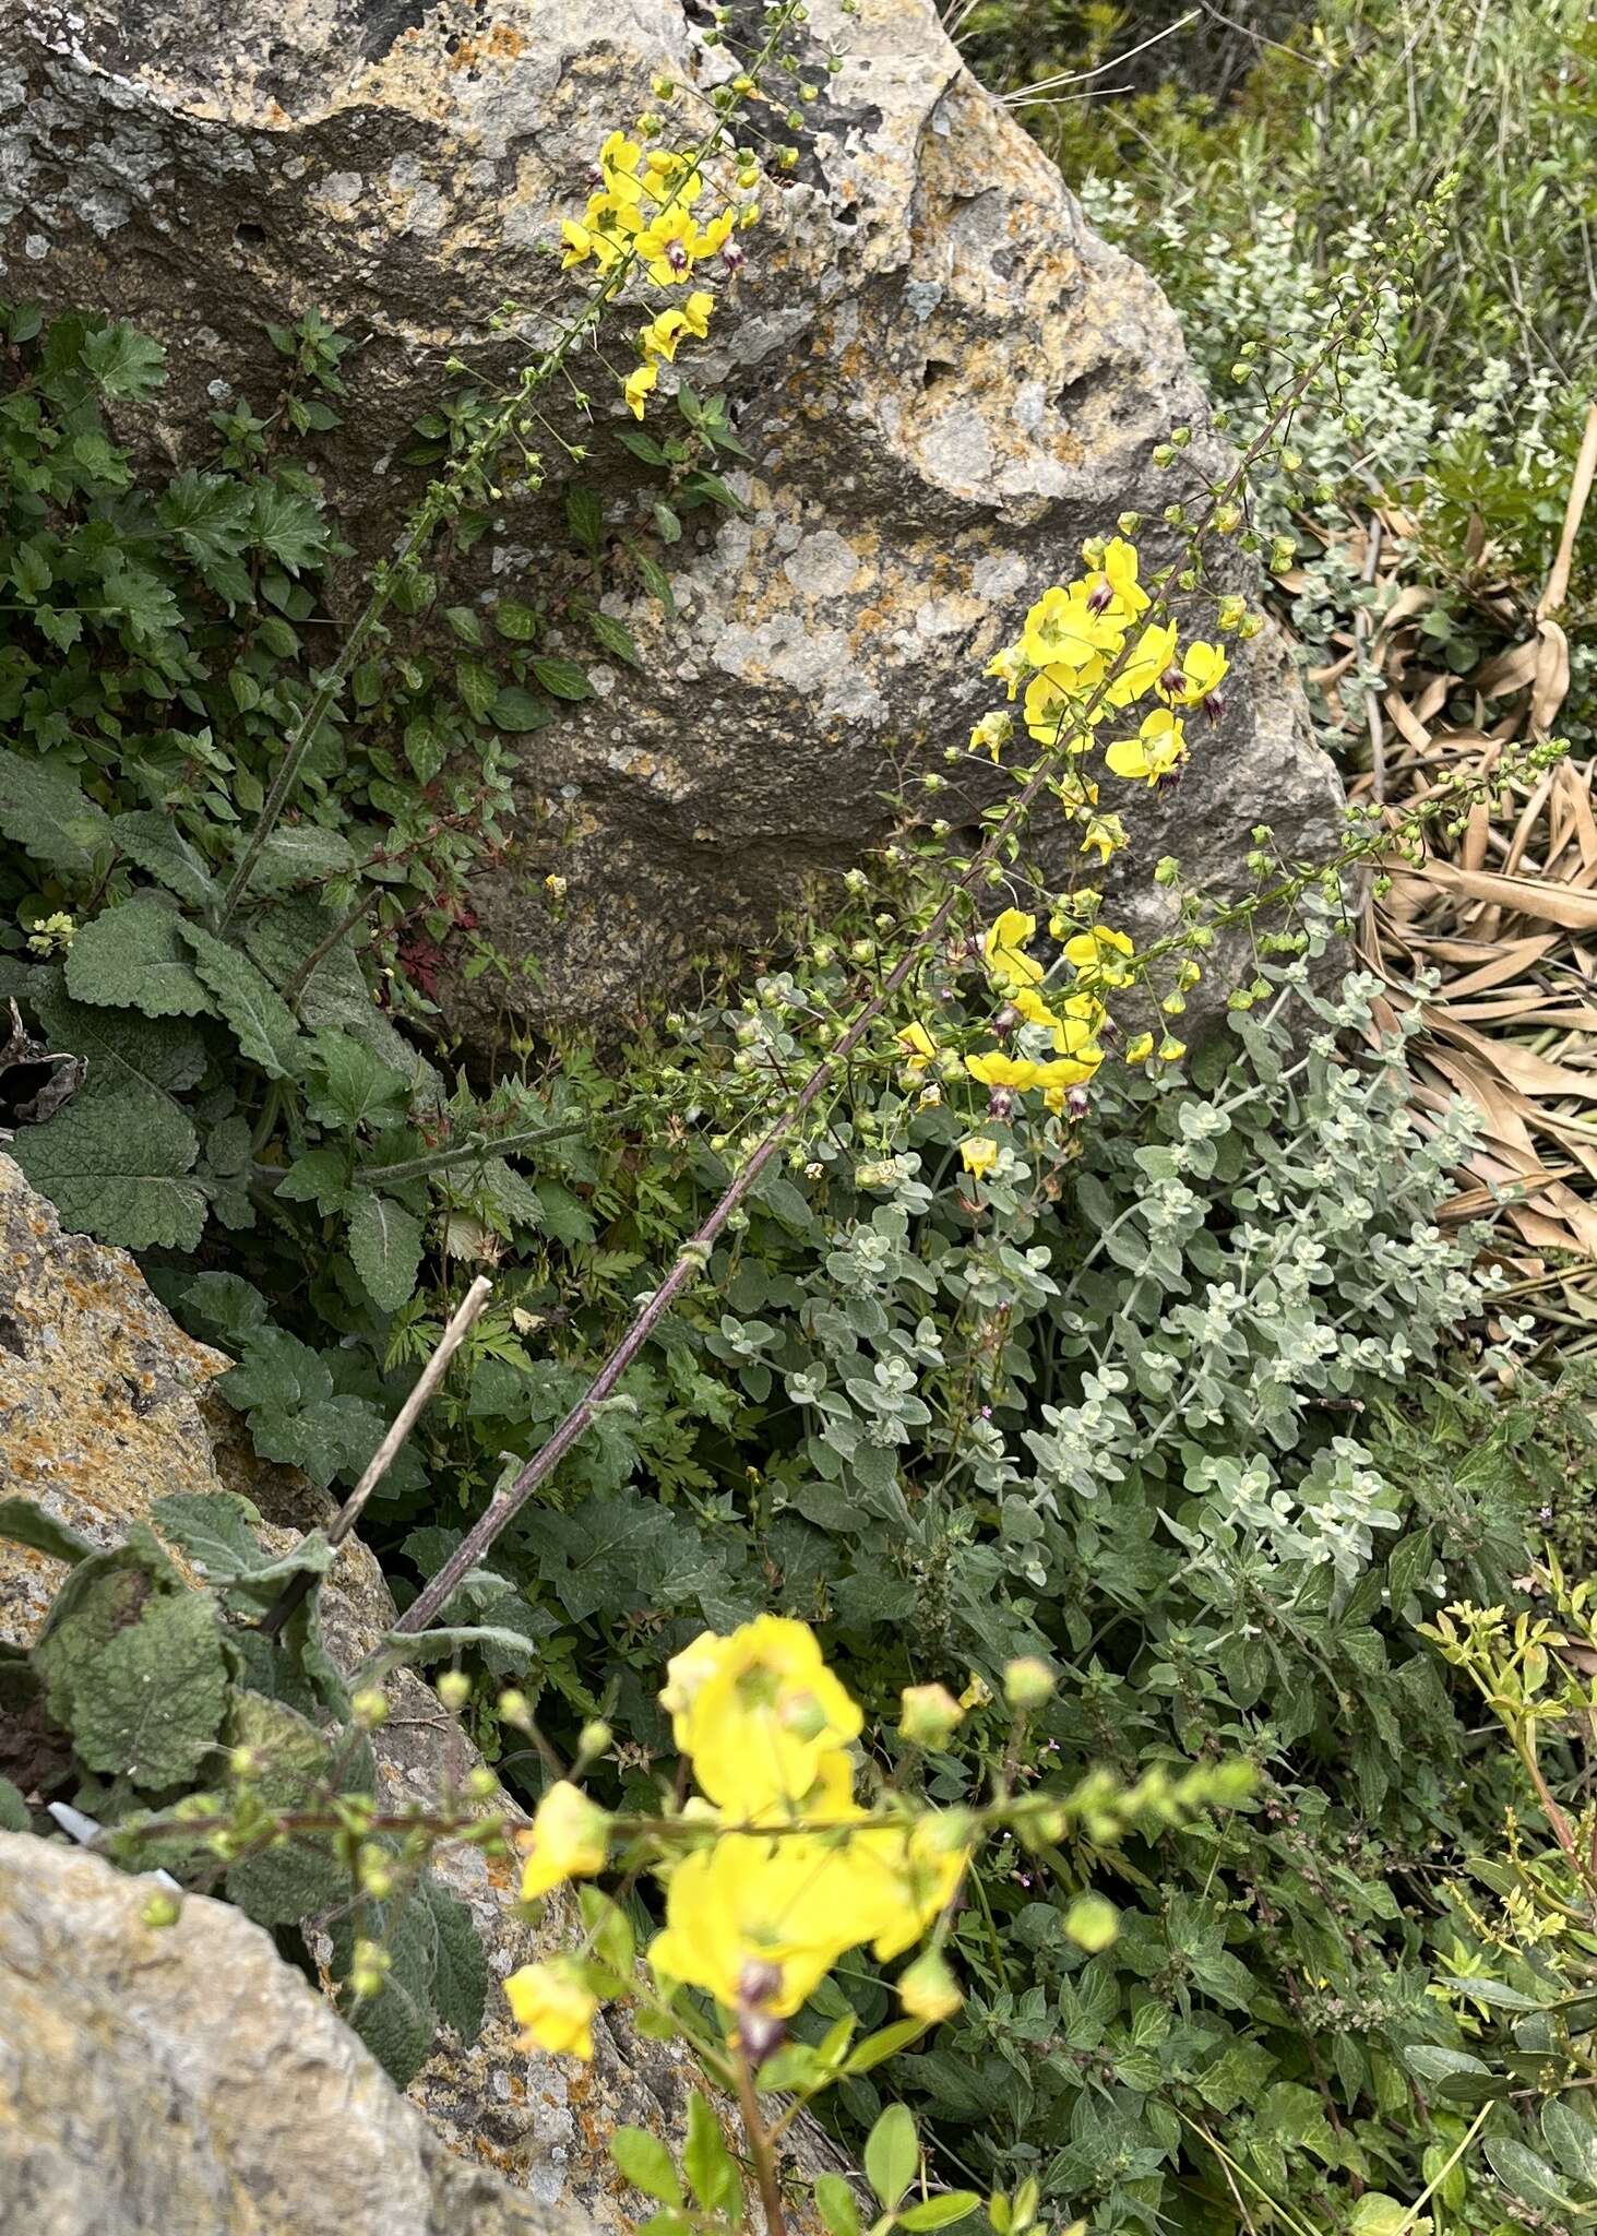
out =
[[[92,1771],[159,1791],[210,1753],[228,1699],[215,1603],[161,1592],[78,1675],[72,1749]]]

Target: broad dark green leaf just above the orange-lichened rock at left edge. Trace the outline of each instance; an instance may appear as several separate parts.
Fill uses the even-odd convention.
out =
[[[186,1178],[197,1154],[183,1111],[132,1084],[78,1093],[11,1143],[11,1156],[72,1234],[125,1250],[199,1248],[206,1198]]]

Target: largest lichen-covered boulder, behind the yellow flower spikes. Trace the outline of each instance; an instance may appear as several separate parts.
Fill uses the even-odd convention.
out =
[[[702,87],[731,67],[684,0],[11,0],[11,16],[4,288],[168,342],[150,434],[172,456],[204,447],[219,400],[275,389],[262,322],[320,306],[365,344],[320,458],[367,550],[416,485],[394,461],[445,358],[503,367],[505,302],[530,347],[573,300],[539,250],[604,134],[649,105],[653,72]],[[456,984],[461,1017],[629,1006],[693,950],[760,930],[803,872],[883,830],[890,756],[964,738],[989,704],[984,660],[1076,568],[1083,534],[1127,508],[1156,519],[1223,465],[1170,306],[1085,228],[933,0],[810,16],[805,36],[845,60],[828,76],[814,49],[805,161],[765,195],[691,376],[734,402],[745,510],[716,528],[693,514],[658,550],[675,619],[626,570],[606,593],[642,671],[602,664],[597,698],[528,751],[526,852],[483,881],[479,912],[537,973]],[[611,416],[611,376],[579,371]],[[1177,423],[1197,436],[1156,474]],[[595,461],[613,519],[635,517],[633,461],[608,436]],[[555,517],[505,508],[476,552],[494,588],[544,581]],[[1170,921],[1147,877],[1163,852],[1228,890],[1259,821],[1288,854],[1333,839],[1335,783],[1279,646],[1239,666],[1181,792],[1127,800],[1134,854],[1109,888],[1138,937]],[[1033,850],[1060,881],[1074,847],[1040,821]]]

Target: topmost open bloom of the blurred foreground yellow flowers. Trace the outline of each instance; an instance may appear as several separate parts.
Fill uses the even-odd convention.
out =
[[[660,1695],[700,1789],[754,1818],[796,1807],[828,1755],[859,1737],[861,1713],[821,1659],[807,1623],[760,1614],[731,1637],[702,1632],[667,1666]]]

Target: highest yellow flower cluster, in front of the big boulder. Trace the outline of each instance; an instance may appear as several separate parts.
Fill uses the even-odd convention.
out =
[[[738,170],[738,186],[756,179],[758,168]],[[606,293],[620,291],[633,271],[662,288],[689,288],[637,329],[637,364],[622,387],[635,418],[644,416],[644,398],[660,380],[660,367],[675,360],[678,344],[689,335],[702,342],[709,333],[716,297],[696,284],[702,266],[718,259],[736,273],[743,262],[736,233],[760,215],[758,201],[745,201],[700,219],[693,212],[702,195],[705,174],[696,157],[671,148],[646,150],[642,139],[611,132],[599,148],[597,186],[584,215],[561,226],[561,266],[595,264]]]

